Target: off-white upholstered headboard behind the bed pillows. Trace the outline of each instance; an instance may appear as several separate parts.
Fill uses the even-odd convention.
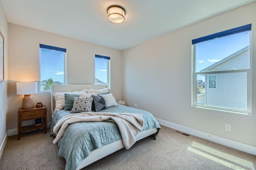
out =
[[[52,95],[55,92],[74,92],[80,91],[84,89],[96,89],[100,90],[106,88],[106,84],[66,84],[66,85],[52,85],[51,90],[51,113],[53,115],[53,111],[55,108],[55,99]]]

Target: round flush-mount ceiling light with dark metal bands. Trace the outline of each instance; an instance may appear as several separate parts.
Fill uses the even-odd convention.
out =
[[[113,23],[124,22],[125,10],[121,6],[113,5],[108,7],[108,20]]]

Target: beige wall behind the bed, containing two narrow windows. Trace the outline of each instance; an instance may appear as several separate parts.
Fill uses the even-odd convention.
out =
[[[18,128],[17,111],[21,107],[22,98],[24,97],[16,94],[16,82],[37,81],[39,86],[40,43],[67,49],[67,84],[94,84],[95,54],[110,57],[110,92],[112,92],[117,101],[121,100],[121,51],[12,23],[9,23],[8,31],[8,129]],[[34,106],[36,106],[37,102],[42,102],[46,105],[47,121],[50,122],[50,92],[38,92],[31,96]],[[22,125],[31,124],[31,121],[22,123]]]

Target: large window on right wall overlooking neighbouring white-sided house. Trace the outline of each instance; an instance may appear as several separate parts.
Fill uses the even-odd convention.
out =
[[[192,40],[192,106],[251,114],[251,27]]]

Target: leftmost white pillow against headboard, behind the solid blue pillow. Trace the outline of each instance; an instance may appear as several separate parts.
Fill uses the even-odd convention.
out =
[[[56,92],[53,93],[52,95],[54,96],[55,99],[55,109],[56,110],[61,110],[64,109],[65,107],[65,93],[71,93],[71,94],[80,94],[80,93],[86,93],[87,89],[80,90],[80,91],[75,91],[75,92]]]

